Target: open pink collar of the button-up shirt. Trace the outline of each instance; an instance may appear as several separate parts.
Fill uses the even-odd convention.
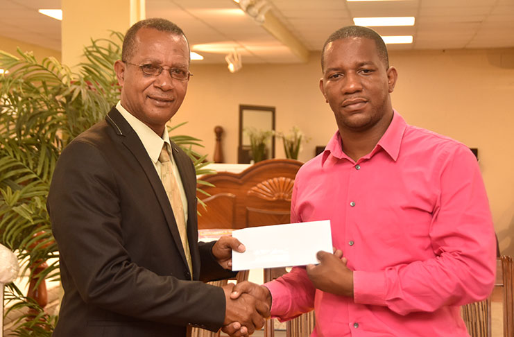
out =
[[[393,120],[391,121],[391,124],[389,124],[386,132],[384,135],[382,135],[382,138],[380,138],[369,156],[372,157],[372,155],[377,153],[377,150],[380,147],[386,151],[391,159],[396,161],[398,154],[400,153],[400,145],[402,144],[405,128],[405,120],[402,118],[402,116],[400,116],[400,114],[398,114],[396,110],[393,110]],[[325,147],[325,150],[323,151],[322,162],[325,163],[325,160],[329,155],[332,155],[338,159],[348,158],[348,156],[343,152],[343,146],[341,144],[341,135],[339,135],[338,130]]]

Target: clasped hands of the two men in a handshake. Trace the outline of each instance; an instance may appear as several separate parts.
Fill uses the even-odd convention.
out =
[[[270,317],[271,293],[265,286],[252,282],[227,284],[225,321],[221,330],[231,337],[249,336],[264,326]]]

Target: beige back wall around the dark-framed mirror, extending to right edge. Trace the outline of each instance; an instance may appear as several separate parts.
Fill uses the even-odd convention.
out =
[[[178,133],[204,140],[212,159],[214,126],[225,129],[226,162],[237,161],[239,104],[277,109],[277,130],[298,126],[311,141],[300,160],[314,155],[336,131],[332,111],[318,89],[319,54],[307,64],[244,64],[236,74],[225,65],[194,63],[189,92],[173,124]],[[408,123],[479,148],[500,249],[514,255],[514,49],[392,52],[399,73],[393,106]],[[504,64],[504,67],[502,67]],[[276,157],[284,157],[277,141]]]

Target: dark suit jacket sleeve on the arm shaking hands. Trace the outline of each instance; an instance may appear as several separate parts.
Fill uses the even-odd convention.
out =
[[[116,175],[105,154],[85,141],[71,142],[58,160],[47,207],[65,291],[72,284],[85,304],[140,320],[219,329],[225,316],[223,289],[157,275],[130,256],[123,245]]]

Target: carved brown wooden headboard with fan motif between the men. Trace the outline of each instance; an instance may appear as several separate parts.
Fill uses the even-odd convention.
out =
[[[198,205],[198,228],[233,228],[289,223],[291,194],[302,162],[268,159],[241,173],[220,172],[201,179],[215,187],[202,189],[197,196],[207,205]]]

